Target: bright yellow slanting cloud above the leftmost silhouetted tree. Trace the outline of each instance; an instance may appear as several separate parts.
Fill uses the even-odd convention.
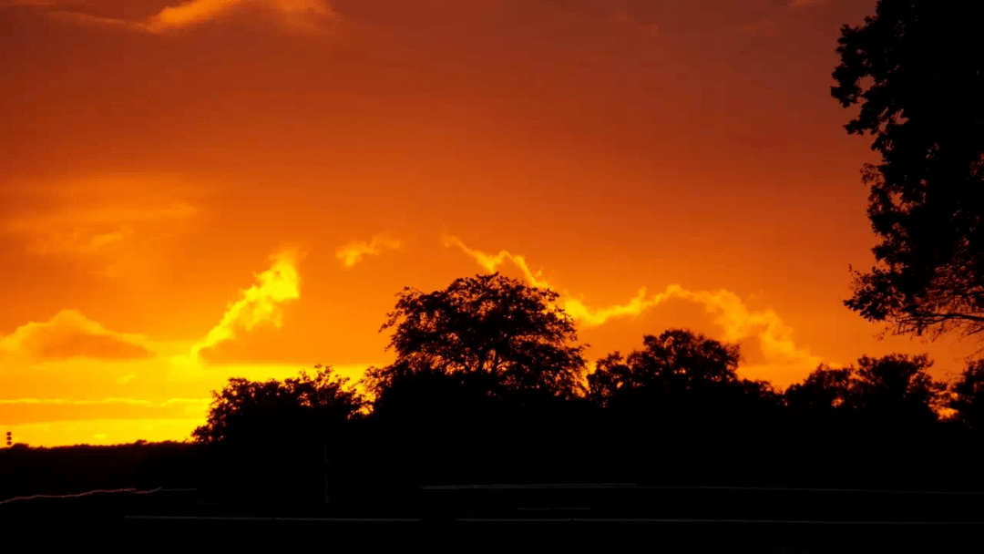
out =
[[[257,283],[242,291],[242,297],[228,305],[221,321],[192,347],[192,357],[225,340],[234,339],[236,330],[250,331],[262,323],[279,329],[283,325],[280,304],[300,298],[297,262],[303,255],[285,251],[272,257],[270,269],[256,276]]]

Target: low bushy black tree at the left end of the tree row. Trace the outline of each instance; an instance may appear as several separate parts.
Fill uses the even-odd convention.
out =
[[[365,401],[330,367],[282,382],[229,379],[193,438],[208,450],[209,490],[247,503],[323,502],[324,449],[347,444]]]

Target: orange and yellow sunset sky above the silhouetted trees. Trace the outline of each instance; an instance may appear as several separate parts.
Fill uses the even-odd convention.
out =
[[[563,294],[589,358],[689,327],[784,388],[888,338],[841,301],[874,0],[0,0],[0,426],[181,440],[229,377],[391,359],[405,285]],[[645,289],[644,289],[645,287]]]

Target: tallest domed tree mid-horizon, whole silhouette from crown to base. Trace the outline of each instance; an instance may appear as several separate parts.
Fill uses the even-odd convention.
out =
[[[419,479],[522,478],[573,443],[584,346],[557,293],[498,274],[405,288],[381,331],[397,359],[370,368],[370,422]],[[565,433],[565,431],[571,433]],[[547,452],[551,451],[551,452]],[[393,459],[394,454],[380,456]],[[491,478],[491,477],[489,477]]]

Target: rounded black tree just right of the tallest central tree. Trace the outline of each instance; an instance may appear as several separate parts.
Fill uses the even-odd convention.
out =
[[[737,345],[683,329],[646,336],[627,357],[615,352],[588,375],[588,399],[607,420],[595,434],[632,479],[712,483],[721,457],[741,449],[731,463],[746,477],[765,465],[781,397],[768,383],[742,379]]]

